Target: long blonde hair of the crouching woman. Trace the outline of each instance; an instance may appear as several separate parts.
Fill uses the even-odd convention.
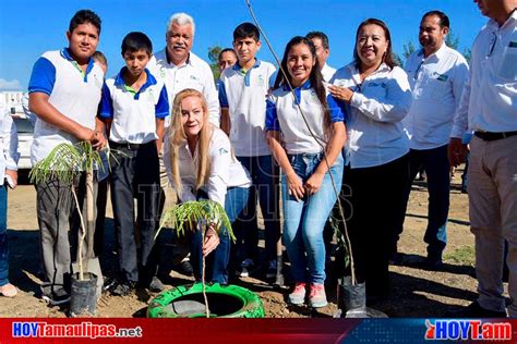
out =
[[[172,168],[172,181],[175,182],[176,193],[178,198],[181,199],[182,194],[182,183],[179,168],[179,150],[187,143],[187,134],[181,123],[181,102],[183,99],[189,97],[196,97],[201,101],[201,107],[203,109],[203,127],[201,128],[200,134],[197,134],[199,139],[195,146],[194,163],[197,167],[197,172],[195,176],[195,189],[200,189],[203,185],[206,184],[209,176],[209,159],[208,159],[208,147],[211,144],[213,127],[208,122],[208,106],[206,105],[205,97],[195,89],[187,88],[180,91],[176,98],[172,106],[172,123],[169,127],[169,158]]]

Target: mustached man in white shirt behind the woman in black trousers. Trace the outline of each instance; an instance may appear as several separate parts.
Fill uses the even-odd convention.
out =
[[[430,269],[442,266],[442,251],[447,243],[450,185],[447,144],[469,69],[465,58],[445,45],[448,33],[449,20],[445,13],[425,13],[419,32],[422,49],[408,58],[405,67],[413,98],[404,120],[411,149],[405,202],[407,205],[417,173],[423,168],[429,189],[429,222],[424,236],[428,257],[424,266]]]

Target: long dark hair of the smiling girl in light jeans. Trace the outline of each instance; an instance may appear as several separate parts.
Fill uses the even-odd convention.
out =
[[[291,75],[289,74],[289,71],[287,69],[287,59],[288,59],[289,51],[291,50],[291,48],[298,45],[308,46],[309,50],[311,51],[312,58],[316,62],[311,70],[311,75],[309,75],[309,81],[311,82],[312,88],[316,93],[317,99],[322,103],[325,132],[327,132],[328,130],[332,128],[330,112],[328,111],[327,95],[325,91],[325,86],[323,86],[322,66],[320,65],[320,62],[317,62],[316,47],[314,47],[314,44],[312,42],[312,40],[302,36],[296,36],[291,38],[291,40],[289,40],[289,42],[286,46],[286,51],[284,51],[284,58],[281,59],[281,69],[286,72],[288,79],[286,81],[284,73],[281,73],[281,71],[278,71],[278,74],[275,79],[275,85],[273,86],[273,88],[276,89],[280,86],[287,85],[287,82],[289,82],[289,84],[292,84]]]

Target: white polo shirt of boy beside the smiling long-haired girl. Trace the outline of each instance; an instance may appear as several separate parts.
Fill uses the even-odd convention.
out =
[[[228,108],[230,142],[238,157],[270,155],[264,122],[267,90],[274,73],[273,64],[258,60],[248,72],[236,63],[221,73],[219,103],[221,108]]]

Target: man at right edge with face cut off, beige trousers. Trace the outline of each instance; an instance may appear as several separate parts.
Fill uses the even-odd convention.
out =
[[[476,0],[491,20],[472,45],[470,77],[465,85],[449,143],[453,165],[470,142],[469,210],[476,236],[478,299],[460,316],[505,317],[502,271],[508,242],[508,315],[517,317],[517,0]]]

